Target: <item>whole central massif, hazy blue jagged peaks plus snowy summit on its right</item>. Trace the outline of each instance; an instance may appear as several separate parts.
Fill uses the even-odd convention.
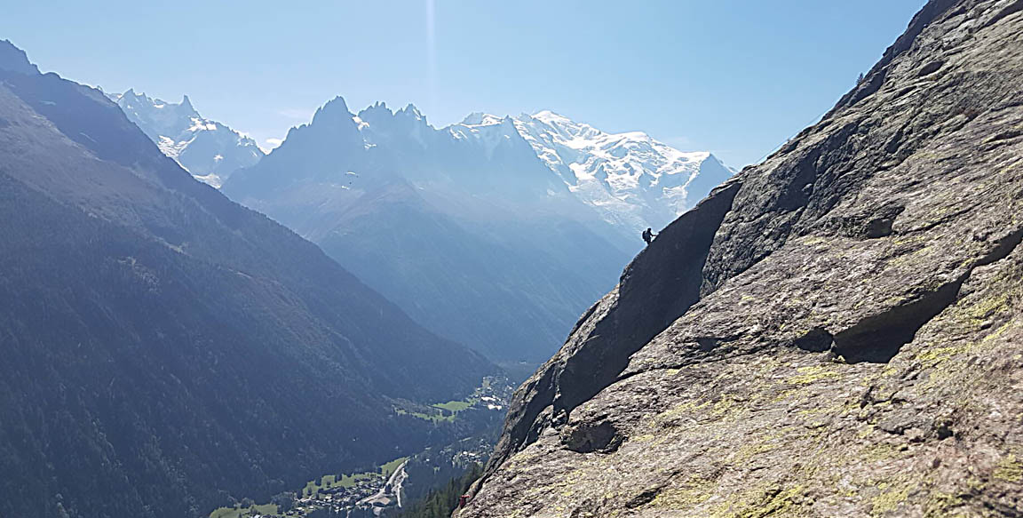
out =
[[[571,131],[589,143],[572,150]],[[639,228],[728,173],[707,154],[552,115],[437,129],[412,105],[355,115],[339,97],[223,190],[432,331],[501,362],[540,361],[617,282]]]

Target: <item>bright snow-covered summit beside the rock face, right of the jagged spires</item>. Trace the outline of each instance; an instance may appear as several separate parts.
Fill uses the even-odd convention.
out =
[[[634,231],[664,227],[733,173],[710,153],[682,153],[642,132],[607,133],[546,111],[472,114],[450,131],[487,142],[518,133],[577,198]]]

